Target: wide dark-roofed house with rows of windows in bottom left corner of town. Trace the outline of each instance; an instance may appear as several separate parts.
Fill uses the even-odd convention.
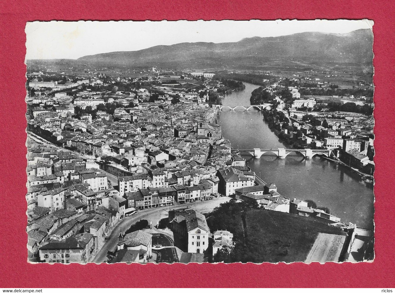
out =
[[[75,234],[39,248],[40,260],[47,263],[87,263],[94,252],[93,235]]]

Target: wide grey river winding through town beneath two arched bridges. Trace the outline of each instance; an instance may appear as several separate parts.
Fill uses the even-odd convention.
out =
[[[244,84],[243,91],[226,95],[222,104],[250,105],[251,92],[258,85]],[[286,148],[256,109],[222,109],[218,124],[222,126],[222,135],[230,140],[234,148]],[[314,200],[317,206],[329,208],[344,223],[373,228],[373,185],[361,180],[347,167],[319,156],[304,159],[301,154],[290,154],[285,159],[270,153],[259,159],[243,157],[252,171],[265,182],[276,184],[281,195]]]

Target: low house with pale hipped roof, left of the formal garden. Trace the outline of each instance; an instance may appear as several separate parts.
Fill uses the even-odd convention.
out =
[[[141,230],[123,235],[119,234],[117,247],[118,253],[122,250],[134,250],[138,252],[139,263],[147,263],[152,256],[152,235]],[[121,252],[120,257],[125,252]],[[134,255],[134,253],[133,253]],[[132,259],[134,257],[131,257]],[[136,260],[137,258],[134,258]]]

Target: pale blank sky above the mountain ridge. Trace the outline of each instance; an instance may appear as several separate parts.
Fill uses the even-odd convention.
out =
[[[371,20],[50,21],[26,24],[26,59],[77,59],[156,45],[237,42],[301,32],[348,33]]]

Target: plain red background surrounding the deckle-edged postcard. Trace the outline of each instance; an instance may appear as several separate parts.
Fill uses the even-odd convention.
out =
[[[0,3],[0,287],[395,287],[393,1],[2,1]],[[26,53],[33,20],[374,20],[376,258],[373,263],[29,264],[26,242]],[[347,196],[346,194],[344,196]]]

